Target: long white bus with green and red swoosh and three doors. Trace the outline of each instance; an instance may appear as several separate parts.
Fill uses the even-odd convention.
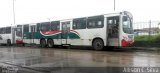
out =
[[[134,42],[133,17],[128,11],[23,25],[23,42],[41,47],[125,47]]]

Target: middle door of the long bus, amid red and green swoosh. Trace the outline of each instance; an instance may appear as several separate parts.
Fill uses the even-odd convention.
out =
[[[69,32],[70,32],[70,21],[62,22],[62,34],[61,34],[61,43],[62,44],[69,44]]]

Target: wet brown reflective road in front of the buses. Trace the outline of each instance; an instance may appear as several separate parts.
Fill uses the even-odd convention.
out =
[[[84,73],[82,69],[73,70],[73,68],[93,70],[94,68],[160,67],[160,53],[133,49],[94,51],[76,48],[0,47],[0,66],[18,69],[17,73],[25,71],[26,73],[63,73],[63,71]]]

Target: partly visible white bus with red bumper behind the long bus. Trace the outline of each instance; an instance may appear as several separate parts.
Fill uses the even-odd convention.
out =
[[[0,44],[23,44],[22,25],[0,27]]]

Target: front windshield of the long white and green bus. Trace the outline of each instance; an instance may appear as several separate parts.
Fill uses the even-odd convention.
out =
[[[132,19],[129,16],[123,16],[124,33],[133,34]]]

